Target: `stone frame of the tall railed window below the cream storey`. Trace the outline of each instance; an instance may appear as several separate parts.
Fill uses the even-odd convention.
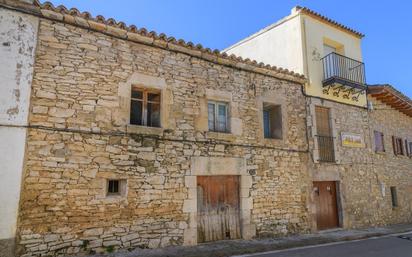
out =
[[[340,148],[339,148],[339,143],[338,143],[338,138],[339,138],[339,133],[336,129],[335,123],[333,122],[335,120],[335,110],[334,110],[334,104],[329,101],[322,101],[322,99],[317,99],[317,98],[311,98],[311,103],[309,104],[309,113],[310,113],[310,121],[308,119],[308,122],[311,122],[308,124],[308,133],[310,133],[310,137],[313,139],[313,149],[312,149],[312,156],[313,156],[313,162],[314,163],[322,163],[319,161],[319,146],[318,146],[318,141],[315,139],[315,135],[317,134],[317,127],[316,127],[316,106],[320,107],[325,107],[329,108],[329,119],[330,119],[330,126],[332,130],[332,137],[334,138],[333,140],[333,147],[335,151],[335,162],[336,164],[339,164],[341,162],[341,156],[340,156]]]

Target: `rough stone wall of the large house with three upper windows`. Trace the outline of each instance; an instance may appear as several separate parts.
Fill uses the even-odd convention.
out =
[[[308,231],[299,83],[46,19],[38,40],[21,254],[196,243],[200,157],[244,160],[244,238]],[[161,91],[162,128],[128,125],[132,85]],[[232,133],[207,131],[208,99],[230,104]],[[281,104],[281,140],[263,139],[263,101]],[[108,178],[127,180],[124,197],[106,197]]]

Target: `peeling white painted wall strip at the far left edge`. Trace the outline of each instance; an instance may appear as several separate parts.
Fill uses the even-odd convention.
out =
[[[0,9],[0,240],[16,232],[38,23]]]

